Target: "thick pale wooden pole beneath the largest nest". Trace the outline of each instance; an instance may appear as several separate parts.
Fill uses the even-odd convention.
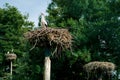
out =
[[[45,70],[44,70],[44,80],[50,80],[50,69],[51,69],[51,60],[50,57],[45,57]]]

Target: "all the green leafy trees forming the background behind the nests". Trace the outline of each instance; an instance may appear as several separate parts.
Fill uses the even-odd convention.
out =
[[[120,74],[120,0],[52,0],[47,9],[50,27],[66,28],[73,36],[72,52],[51,56],[51,80],[85,80],[83,65],[91,61],[116,64]],[[0,78],[9,80],[4,55],[14,49],[13,80],[43,80],[44,50],[34,48],[24,33],[34,30],[14,6],[0,8]],[[117,80],[117,78],[113,78]]]

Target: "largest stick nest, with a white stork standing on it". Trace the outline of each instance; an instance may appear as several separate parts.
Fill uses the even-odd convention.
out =
[[[70,48],[72,37],[67,29],[41,28],[25,33],[25,38],[34,46],[61,46]]]

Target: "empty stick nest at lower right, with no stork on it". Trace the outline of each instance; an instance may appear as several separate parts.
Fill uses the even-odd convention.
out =
[[[108,73],[108,72],[111,72],[115,69],[115,64],[113,64],[111,62],[94,61],[94,62],[90,62],[88,64],[85,64],[84,69],[88,73],[93,73],[93,72],[94,73],[97,73],[97,72]]]

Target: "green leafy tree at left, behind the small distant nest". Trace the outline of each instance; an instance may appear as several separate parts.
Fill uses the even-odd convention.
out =
[[[26,54],[26,42],[23,33],[32,29],[33,22],[27,20],[28,16],[23,16],[16,7],[6,4],[4,8],[0,8],[0,77],[6,77],[5,73],[9,72],[9,64],[5,60],[4,55],[14,49],[18,59],[15,61],[14,67],[19,68]],[[18,74],[17,71],[13,72]]]

